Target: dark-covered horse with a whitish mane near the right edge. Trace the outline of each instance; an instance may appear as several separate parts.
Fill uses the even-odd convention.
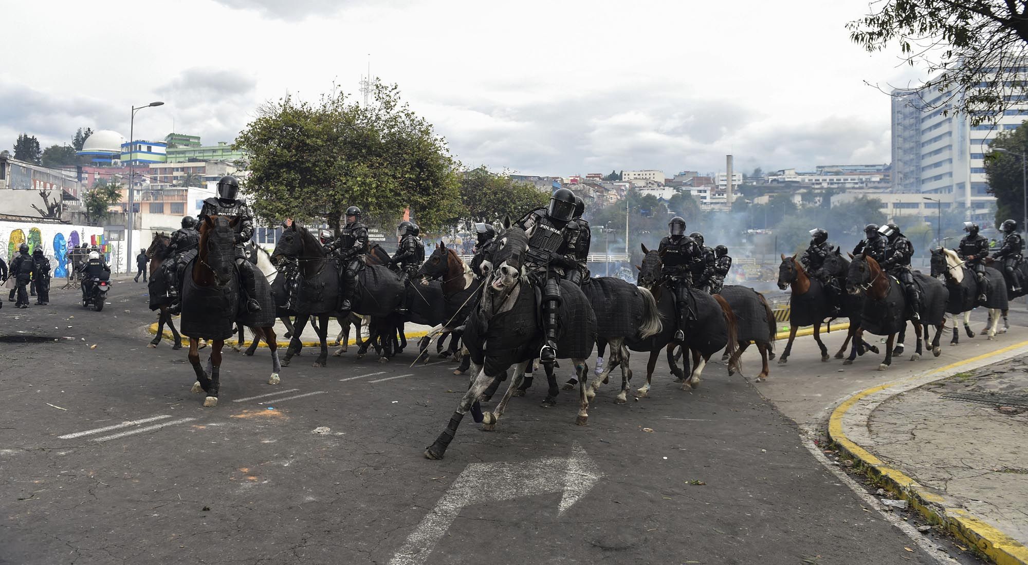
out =
[[[950,292],[949,300],[946,303],[946,312],[953,321],[953,339],[950,340],[950,345],[956,345],[960,341],[956,314],[963,313],[964,332],[967,333],[967,337],[975,337],[975,332],[970,329],[970,311],[976,306],[988,308],[989,324],[983,331],[987,333],[990,340],[995,339],[999,316],[1007,307],[1006,281],[996,269],[986,267],[985,274],[989,279],[989,292],[986,293],[988,300],[985,304],[979,304],[978,282],[975,280],[974,271],[967,268],[964,261],[953,250],[945,248],[931,250],[931,276],[942,277]]]

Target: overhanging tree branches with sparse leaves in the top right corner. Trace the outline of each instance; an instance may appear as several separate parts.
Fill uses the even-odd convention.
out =
[[[931,78],[911,91],[926,111],[950,108],[972,124],[993,121],[1028,93],[1018,71],[1028,56],[1028,5],[1015,0],[885,0],[850,22],[850,38],[868,51],[893,45]],[[938,93],[944,96],[938,97]]]

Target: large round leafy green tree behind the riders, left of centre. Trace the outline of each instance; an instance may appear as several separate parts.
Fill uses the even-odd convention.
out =
[[[342,92],[317,104],[286,97],[261,108],[233,148],[250,156],[244,190],[269,222],[317,219],[338,231],[346,206],[359,205],[373,218],[409,209],[431,230],[462,208],[446,142],[396,85],[376,81],[367,106]]]

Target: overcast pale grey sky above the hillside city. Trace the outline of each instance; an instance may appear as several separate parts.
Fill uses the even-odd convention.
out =
[[[132,8],[128,17],[127,9]],[[0,147],[75,129],[232,141],[264,101],[366,72],[397,83],[465,164],[568,176],[889,161],[916,73],[846,22],[868,0],[142,0],[6,3]],[[130,24],[131,22],[131,24]]]

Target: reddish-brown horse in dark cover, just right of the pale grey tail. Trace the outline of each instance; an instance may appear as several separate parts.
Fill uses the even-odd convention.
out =
[[[661,267],[663,260],[660,257],[660,253],[656,250],[647,249],[645,244],[641,248],[642,253],[646,255],[642,257],[641,265],[635,266],[638,270],[636,284],[653,294],[658,311],[663,319],[676,321],[676,299],[667,284],[662,282]],[[688,378],[685,372],[681,375],[675,373],[678,381],[683,383],[683,390],[699,387],[700,375],[703,373],[703,368],[706,366],[707,361],[709,361],[710,355],[722,349],[726,349],[729,359],[734,360],[733,364],[729,367],[731,369],[738,369],[738,356],[736,355],[738,351],[738,339],[736,318],[732,307],[719,295],[711,296],[698,289],[689,289],[688,293],[689,300],[692,303],[690,309],[696,317],[692,321],[686,321],[686,327],[682,328],[683,333],[686,335],[683,351],[689,349],[692,355],[693,367]],[[646,384],[636,390],[639,397],[649,394],[653,382],[653,372],[657,366],[657,357],[660,355],[661,350],[668,345],[673,345],[674,332],[677,329],[677,324],[664,324],[661,332],[648,340],[630,346],[635,351],[650,351],[650,361],[647,364]],[[668,351],[668,354],[671,354],[670,351]],[[688,369],[688,366],[686,369]]]

